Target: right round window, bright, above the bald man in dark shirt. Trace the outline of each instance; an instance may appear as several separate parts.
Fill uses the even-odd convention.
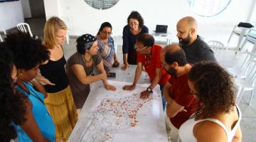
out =
[[[200,16],[215,16],[224,11],[231,0],[187,0],[188,6]]]

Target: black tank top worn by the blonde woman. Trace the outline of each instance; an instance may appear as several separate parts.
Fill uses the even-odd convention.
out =
[[[60,60],[49,60],[46,65],[40,66],[41,74],[46,77],[50,82],[55,85],[47,84],[44,87],[46,88],[46,92],[55,93],[59,92],[66,87],[68,87],[68,76],[65,72],[65,57],[63,55]]]

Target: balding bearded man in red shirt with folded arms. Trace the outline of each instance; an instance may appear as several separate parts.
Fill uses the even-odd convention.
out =
[[[166,98],[166,114],[171,124],[171,139],[178,137],[178,129],[189,116],[197,110],[197,99],[188,87],[187,73],[191,65],[186,61],[186,55],[178,45],[167,45],[161,52],[161,60],[165,70],[171,75],[164,86]]]

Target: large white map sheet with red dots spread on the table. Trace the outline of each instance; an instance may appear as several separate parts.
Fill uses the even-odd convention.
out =
[[[91,92],[69,141],[168,141],[159,85],[149,99],[140,92],[149,84],[137,84],[124,91],[127,82],[108,81],[117,87],[107,91],[102,82],[91,85]]]

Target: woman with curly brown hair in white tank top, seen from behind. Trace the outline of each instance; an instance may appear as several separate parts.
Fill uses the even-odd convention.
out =
[[[181,125],[181,141],[241,141],[242,114],[228,72],[216,62],[199,62],[188,73],[188,86],[203,107]]]

